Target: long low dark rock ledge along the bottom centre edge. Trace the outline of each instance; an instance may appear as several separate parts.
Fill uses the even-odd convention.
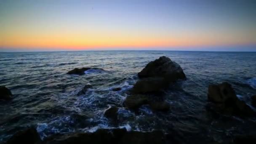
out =
[[[57,134],[46,138],[42,144],[164,144],[162,131],[140,132],[125,129],[98,129],[94,133]]]

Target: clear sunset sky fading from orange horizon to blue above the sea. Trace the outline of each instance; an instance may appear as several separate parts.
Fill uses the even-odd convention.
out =
[[[255,0],[0,0],[0,51],[256,51]]]

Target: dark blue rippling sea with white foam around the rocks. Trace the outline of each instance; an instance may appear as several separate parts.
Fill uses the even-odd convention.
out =
[[[149,61],[168,56],[184,69],[186,81],[165,91],[171,112],[139,114],[123,108],[127,91],[138,80],[137,73]],[[75,67],[98,67],[85,75],[67,75]],[[14,94],[0,101],[0,141],[27,126],[35,126],[42,138],[54,133],[95,131],[125,127],[136,131],[170,129],[189,141],[226,142],[235,134],[255,133],[255,118],[214,116],[206,111],[209,84],[227,81],[240,99],[251,105],[256,94],[256,53],[185,51],[74,51],[0,53],[0,85]],[[84,85],[93,86],[77,96]],[[111,89],[120,87],[121,91]],[[111,105],[121,107],[119,123],[104,117]],[[253,127],[254,125],[254,127]]]

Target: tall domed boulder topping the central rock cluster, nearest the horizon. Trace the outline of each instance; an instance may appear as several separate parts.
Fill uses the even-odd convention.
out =
[[[161,56],[159,59],[149,62],[149,64],[147,64],[147,66],[138,73],[138,75],[139,78],[163,77],[168,82],[186,79],[180,65],[165,56]]]

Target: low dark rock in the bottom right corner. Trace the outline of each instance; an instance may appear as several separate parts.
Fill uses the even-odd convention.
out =
[[[234,144],[255,144],[256,135],[238,135],[233,141]]]

